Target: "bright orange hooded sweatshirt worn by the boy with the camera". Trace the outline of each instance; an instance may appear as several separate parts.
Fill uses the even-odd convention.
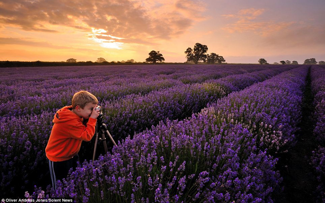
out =
[[[51,161],[65,161],[75,156],[82,141],[90,141],[95,134],[96,119],[89,118],[87,127],[83,118],[73,113],[72,106],[60,109],[54,116],[53,128],[45,152]]]

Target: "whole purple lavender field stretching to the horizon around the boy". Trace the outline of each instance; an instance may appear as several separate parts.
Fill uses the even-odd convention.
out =
[[[314,96],[312,194],[325,201],[325,66],[129,65],[1,68],[0,197],[76,202],[276,202],[278,160]],[[309,79],[309,80],[308,80]],[[308,83],[308,81],[310,81]],[[50,186],[45,147],[72,95],[97,96],[117,146],[83,142],[82,163]],[[102,143],[100,143],[102,144]],[[101,155],[99,155],[101,154]]]

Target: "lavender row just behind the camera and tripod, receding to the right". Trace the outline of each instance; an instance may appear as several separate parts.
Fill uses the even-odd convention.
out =
[[[111,134],[124,139],[159,121],[185,119],[230,92],[244,89],[291,68],[293,67],[229,75],[204,83],[182,84],[152,91],[144,96],[131,94],[119,100],[106,101],[101,104],[103,121],[112,129]]]

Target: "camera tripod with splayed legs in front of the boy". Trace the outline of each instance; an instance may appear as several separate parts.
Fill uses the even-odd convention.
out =
[[[102,117],[103,117],[103,113],[100,112],[100,114],[99,114],[99,116],[97,118],[97,123],[96,123],[96,134],[95,134],[96,139],[95,139],[95,146],[94,146],[94,153],[93,153],[93,161],[92,162],[94,162],[94,160],[95,160],[98,139],[103,142],[105,154],[108,152],[105,134],[110,138],[112,143],[116,146],[116,143],[115,143],[113,137],[108,132],[106,124],[102,123],[102,120],[101,120]],[[101,134],[100,138],[98,137],[99,133]]]

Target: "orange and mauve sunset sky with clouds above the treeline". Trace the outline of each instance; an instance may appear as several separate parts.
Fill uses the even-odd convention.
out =
[[[325,0],[0,0],[0,61],[325,61]]]

